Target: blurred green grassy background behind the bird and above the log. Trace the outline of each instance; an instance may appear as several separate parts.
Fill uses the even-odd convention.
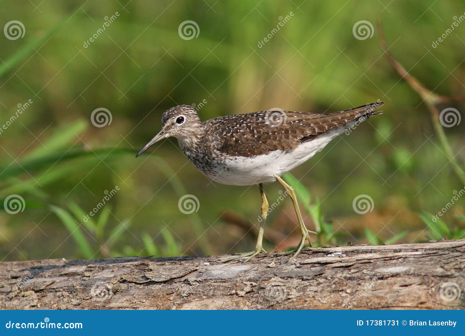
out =
[[[422,98],[383,54],[378,27],[382,20],[389,51],[412,76],[438,94],[465,96],[465,23],[432,46],[464,15],[464,1],[4,0],[1,6],[1,26],[18,20],[24,36],[9,39],[8,30],[0,36],[0,124],[17,116],[0,133],[0,200],[25,200],[15,214],[0,207],[2,261],[252,250],[257,187],[210,183],[175,139],[134,157],[159,131],[163,111],[177,104],[196,104],[206,120],[384,101],[383,115],[292,172],[306,187],[296,187],[306,225],[322,233],[317,246],[464,233],[465,199],[441,217],[446,227],[430,220],[428,213],[438,213],[464,185]],[[186,20],[198,25],[197,37],[181,38]],[[372,37],[354,36],[360,20],[372,24]],[[439,110],[445,107],[463,111],[464,104]],[[91,123],[98,108],[112,116],[104,127]],[[444,128],[462,170],[464,129],[465,123]],[[105,207],[83,220],[116,186]],[[277,202],[279,184],[265,187],[270,204]],[[179,211],[185,194],[199,200],[196,212]],[[372,198],[371,212],[354,211],[360,194]],[[295,221],[291,201],[279,201],[268,216],[265,248],[297,244]]]

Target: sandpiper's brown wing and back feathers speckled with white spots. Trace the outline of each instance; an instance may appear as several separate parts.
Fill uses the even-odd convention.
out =
[[[213,118],[204,125],[210,134],[216,131],[225,139],[218,142],[219,151],[228,155],[252,157],[278,149],[296,148],[302,142],[362,116],[379,114],[381,111],[375,109],[382,105],[367,104],[331,114],[259,111]]]

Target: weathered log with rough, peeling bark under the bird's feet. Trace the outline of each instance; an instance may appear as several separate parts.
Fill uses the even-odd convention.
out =
[[[206,258],[0,263],[6,309],[463,309],[465,239]]]

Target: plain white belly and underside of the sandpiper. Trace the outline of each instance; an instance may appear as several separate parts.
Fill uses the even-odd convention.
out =
[[[226,168],[217,168],[207,176],[215,182],[235,186],[273,182],[276,181],[275,175],[286,174],[306,162],[344,131],[345,128],[329,131],[294,149],[275,150],[270,154],[254,157],[235,156],[226,161]]]

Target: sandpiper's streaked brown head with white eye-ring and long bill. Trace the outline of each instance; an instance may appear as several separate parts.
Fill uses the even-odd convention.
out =
[[[141,155],[161,139],[174,136],[179,142],[193,144],[199,139],[202,124],[197,111],[190,105],[178,105],[166,110],[161,116],[161,130],[140,151]],[[192,143],[191,143],[192,142]]]

